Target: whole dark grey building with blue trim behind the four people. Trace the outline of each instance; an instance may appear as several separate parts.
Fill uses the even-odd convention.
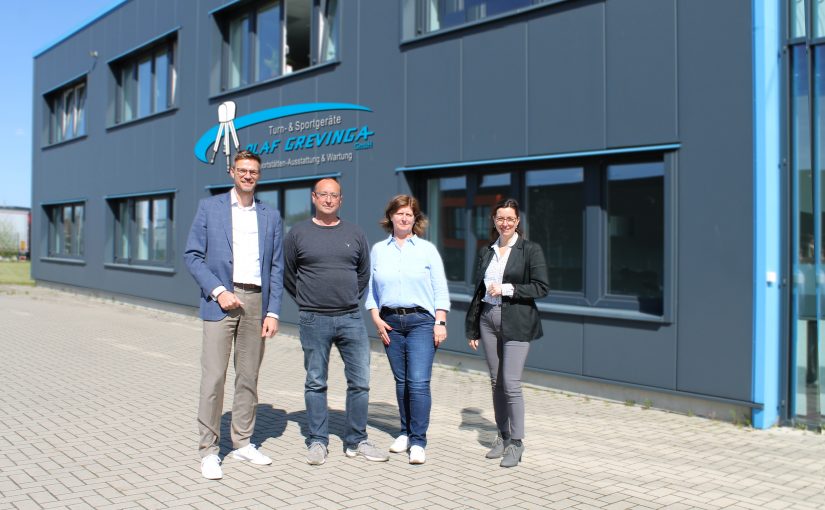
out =
[[[819,5],[117,3],[35,56],[33,277],[195,306],[181,254],[230,187],[233,101],[286,228],[322,176],[371,242],[422,200],[446,351],[472,355],[473,262],[515,197],[551,278],[531,371],[822,423]]]

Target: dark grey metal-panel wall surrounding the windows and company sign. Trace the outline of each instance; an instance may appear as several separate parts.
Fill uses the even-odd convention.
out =
[[[91,69],[88,136],[45,150],[39,136],[34,143],[34,249],[45,235],[40,203],[86,198],[86,264],[47,263],[36,252],[35,278],[195,305],[180,254],[205,186],[229,180],[220,162],[203,165],[192,148],[226,99],[239,115],[315,101],[372,108],[344,115],[376,132],[375,147],[353,163],[263,173],[340,171],[342,215],[371,242],[384,235],[377,220],[387,199],[407,190],[393,171],[400,166],[677,142],[673,323],[545,314],[545,338],[528,365],[750,399],[751,38],[743,2],[571,0],[401,45],[399,2],[346,1],[339,63],[213,97],[217,30],[208,12],[222,3],[133,1],[35,60],[36,126],[42,94]],[[107,129],[107,62],[177,26],[177,109]],[[92,50],[100,55],[94,68]],[[239,135],[242,144],[260,141],[250,130]],[[175,274],[105,269],[103,197],[160,189],[177,190]],[[285,302],[284,319],[297,320]],[[463,307],[450,315],[447,348],[467,352]]]

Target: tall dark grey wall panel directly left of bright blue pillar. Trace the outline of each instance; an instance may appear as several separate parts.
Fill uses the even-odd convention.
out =
[[[677,371],[680,389],[750,399],[753,73],[743,4],[679,3]]]

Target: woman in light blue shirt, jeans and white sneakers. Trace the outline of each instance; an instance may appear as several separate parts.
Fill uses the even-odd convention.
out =
[[[401,433],[390,451],[409,451],[410,464],[426,461],[430,378],[435,350],[447,338],[450,294],[435,246],[422,239],[427,218],[410,195],[393,197],[381,220],[390,236],[370,252],[367,310],[395,378]]]

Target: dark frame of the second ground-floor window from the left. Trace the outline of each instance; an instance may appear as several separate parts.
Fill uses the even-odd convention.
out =
[[[137,202],[149,201],[149,234],[147,239],[148,249],[153,249],[156,231],[154,228],[154,202],[165,200],[166,205],[166,243],[165,243],[165,257],[163,260],[153,260],[151,258],[138,257],[138,221],[136,218]],[[158,267],[171,268],[174,267],[174,245],[175,245],[175,192],[161,191],[149,194],[128,195],[107,197],[106,201],[111,211],[112,223],[112,243],[111,243],[111,260],[116,265],[124,266],[143,266],[143,267]],[[128,216],[125,220],[122,215]],[[123,247],[122,239],[125,238],[128,243],[128,255],[121,256],[121,248]]]

